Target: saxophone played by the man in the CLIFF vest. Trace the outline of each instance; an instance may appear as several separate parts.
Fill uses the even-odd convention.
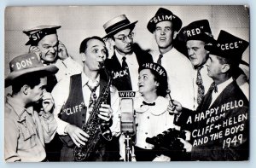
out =
[[[82,126],[84,132],[86,132],[90,137],[85,145],[80,145],[80,147],[76,146],[74,148],[74,159],[76,161],[88,160],[90,154],[96,151],[96,146],[99,143],[101,136],[108,141],[112,140],[112,132],[109,129],[109,126],[105,123],[102,123],[102,119],[97,116],[101,104],[107,102],[109,87],[112,83],[111,75],[104,66],[103,62],[100,62],[100,67],[102,67],[104,69],[104,72],[107,74],[108,83],[104,86],[99,98],[97,99],[96,105],[90,113],[88,121]]]

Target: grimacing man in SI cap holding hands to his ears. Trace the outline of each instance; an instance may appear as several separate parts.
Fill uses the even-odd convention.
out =
[[[29,52],[36,53],[44,65],[53,64],[59,68],[55,74],[57,82],[64,77],[82,72],[82,67],[73,61],[67,54],[65,45],[58,39],[59,28],[61,26],[37,26],[23,31],[29,38],[26,43],[30,45]]]

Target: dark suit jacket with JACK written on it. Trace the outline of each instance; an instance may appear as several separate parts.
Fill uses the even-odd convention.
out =
[[[152,55],[150,55],[147,51],[141,49],[137,43],[133,44],[133,51],[137,57],[138,65],[141,66],[145,62],[153,62]],[[118,90],[132,90],[131,86],[127,82],[127,78],[125,74],[122,74],[122,65],[119,63],[119,60],[114,53],[111,59],[106,60],[106,67],[109,72],[111,72],[113,77],[113,85]],[[116,76],[115,74],[119,74]]]

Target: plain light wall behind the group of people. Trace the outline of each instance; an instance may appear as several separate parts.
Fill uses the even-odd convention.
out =
[[[5,75],[9,73],[9,61],[25,54],[28,37],[22,31],[40,25],[58,25],[59,39],[67,47],[67,52],[79,61],[79,46],[84,38],[104,37],[103,24],[113,17],[125,14],[135,26],[135,42],[143,49],[156,50],[153,34],[148,32],[148,21],[160,8],[170,9],[187,26],[195,20],[209,20],[212,35],[218,38],[220,30],[249,41],[249,11],[239,6],[73,6],[73,7],[9,7],[5,9]],[[243,55],[249,62],[249,48]],[[182,66],[182,65],[177,65]]]

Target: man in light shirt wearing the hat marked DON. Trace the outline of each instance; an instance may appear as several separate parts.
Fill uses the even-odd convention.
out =
[[[5,87],[12,86],[4,111],[4,159],[8,162],[38,162],[46,157],[44,142],[50,142],[57,128],[52,114],[54,101],[45,91],[47,76],[58,71],[44,66],[35,54],[15,57],[9,63]],[[33,105],[42,103],[40,111]]]

